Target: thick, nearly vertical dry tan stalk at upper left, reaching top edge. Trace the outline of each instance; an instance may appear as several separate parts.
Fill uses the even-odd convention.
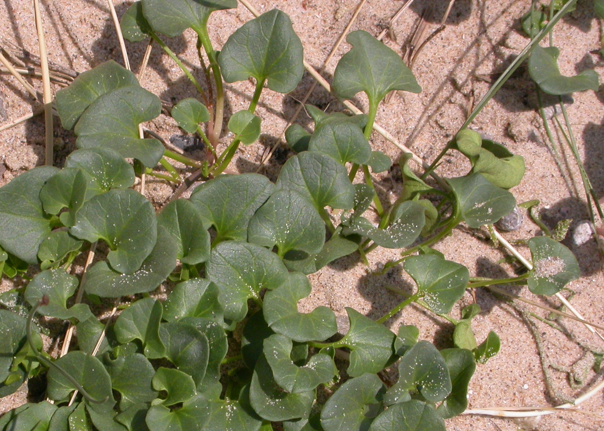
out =
[[[36,31],[38,36],[38,46],[40,49],[40,67],[42,68],[42,101],[44,104],[44,129],[45,129],[45,164],[53,165],[53,91],[50,88],[50,72],[48,71],[48,54],[46,43],[44,41],[44,26],[42,24],[42,14],[40,13],[40,2],[34,0],[34,18],[36,19]]]

